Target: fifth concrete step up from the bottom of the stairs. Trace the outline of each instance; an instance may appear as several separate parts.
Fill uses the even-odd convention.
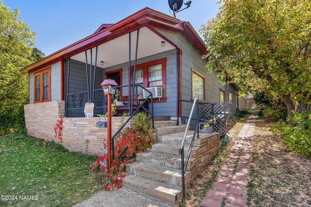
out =
[[[193,133],[194,131],[187,132],[186,139],[185,139],[185,146],[190,145]],[[156,143],[173,144],[173,145],[178,145],[180,147],[183,136],[184,136],[184,132],[157,136]],[[206,138],[207,136],[210,136],[210,134],[200,133],[200,138]]]

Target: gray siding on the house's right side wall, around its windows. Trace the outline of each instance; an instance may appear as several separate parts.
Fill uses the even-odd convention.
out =
[[[217,73],[207,74],[207,61],[202,59],[202,55],[194,49],[190,42],[183,37],[181,33],[172,34],[165,31],[158,30],[162,35],[165,35],[173,43],[175,43],[182,50],[182,99],[191,99],[191,69],[205,76],[205,98],[209,102],[219,102],[219,88],[225,90],[217,78]],[[236,94],[237,91],[228,86],[228,90],[233,94],[233,104],[229,106],[231,115],[236,113]],[[182,104],[183,116],[188,116],[190,113],[190,103]]]

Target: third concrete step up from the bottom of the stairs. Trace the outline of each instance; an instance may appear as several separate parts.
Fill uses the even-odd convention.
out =
[[[186,155],[185,155],[186,158]],[[190,157],[189,164],[193,158]],[[157,165],[166,168],[174,168],[174,169],[181,169],[181,158],[180,155],[165,155],[160,153],[137,153],[136,154],[136,161],[142,162],[151,165]]]

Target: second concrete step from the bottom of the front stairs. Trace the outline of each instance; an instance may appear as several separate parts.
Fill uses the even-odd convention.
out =
[[[141,162],[133,162],[126,165],[126,173],[158,182],[181,186],[181,171],[173,168],[166,168]],[[185,176],[187,176],[188,173],[190,172],[187,171]]]

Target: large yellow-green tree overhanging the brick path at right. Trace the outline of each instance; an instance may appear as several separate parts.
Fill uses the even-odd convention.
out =
[[[203,24],[207,71],[244,90],[270,91],[292,115],[311,104],[311,1],[220,0]],[[205,58],[206,58],[205,57]],[[296,104],[298,103],[298,104]]]

